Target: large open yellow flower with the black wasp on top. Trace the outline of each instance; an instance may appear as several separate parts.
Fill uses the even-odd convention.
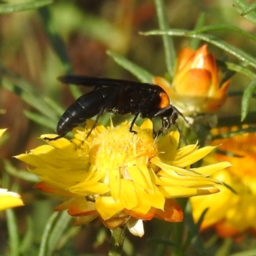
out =
[[[213,172],[229,166],[219,163],[189,168],[212,147],[188,145],[177,149],[179,133],[172,131],[157,142],[153,125],[146,120],[129,132],[130,123],[117,127],[73,129],[74,138],[61,138],[17,156],[41,177],[36,185],[44,192],[65,198],[56,211],[66,210],[85,224],[99,217],[108,228],[126,224],[132,234],[143,236],[143,220],[183,220],[174,198],[218,192]],[[54,137],[44,135],[44,137]]]

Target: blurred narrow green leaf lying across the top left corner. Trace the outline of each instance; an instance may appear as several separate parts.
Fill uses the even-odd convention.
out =
[[[0,4],[0,14],[10,14],[30,9],[38,9],[50,3],[53,3],[53,0],[37,0],[34,2],[20,4]]]

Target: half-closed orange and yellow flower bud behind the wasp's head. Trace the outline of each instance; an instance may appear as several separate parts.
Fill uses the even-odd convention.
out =
[[[196,51],[185,47],[179,52],[172,85],[160,77],[153,82],[166,90],[183,114],[209,113],[220,108],[227,96],[230,80],[221,85],[219,76],[215,57],[204,44]]]

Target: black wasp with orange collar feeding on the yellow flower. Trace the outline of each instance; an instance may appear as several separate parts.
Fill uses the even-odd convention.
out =
[[[139,114],[141,114],[143,119],[160,117],[162,127],[156,134],[166,131],[171,125],[175,125],[184,143],[186,143],[176,123],[179,115],[185,121],[186,119],[177,108],[172,106],[166,91],[159,85],[79,75],[65,75],[60,77],[59,80],[64,84],[77,84],[88,87],[95,86],[95,90],[91,90],[80,96],[67,108],[57,125],[56,131],[59,136],[52,139],[47,138],[48,140],[63,137],[75,126],[83,123],[86,119],[96,116],[95,124],[91,129],[92,131],[102,116],[102,113],[108,111],[114,114],[134,114],[129,129],[129,131],[134,133],[136,131],[133,131],[132,127]]]

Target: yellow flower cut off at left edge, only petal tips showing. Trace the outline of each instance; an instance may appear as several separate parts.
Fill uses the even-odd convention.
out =
[[[4,131],[6,131],[6,129],[0,129],[0,138],[3,136]],[[21,207],[23,205],[19,194],[10,192],[7,189],[0,189],[0,211],[12,207]]]

